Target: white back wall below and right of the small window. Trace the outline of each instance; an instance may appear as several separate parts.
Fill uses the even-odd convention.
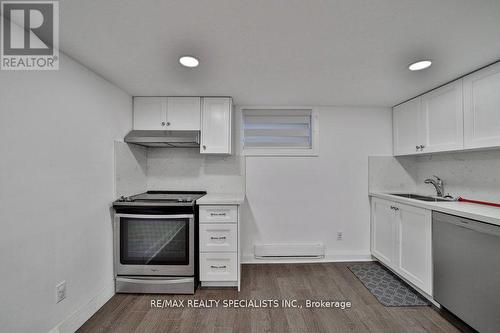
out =
[[[318,109],[318,157],[246,158],[245,261],[254,243],[320,241],[330,260],[369,257],[368,156],[392,153],[391,110]]]

